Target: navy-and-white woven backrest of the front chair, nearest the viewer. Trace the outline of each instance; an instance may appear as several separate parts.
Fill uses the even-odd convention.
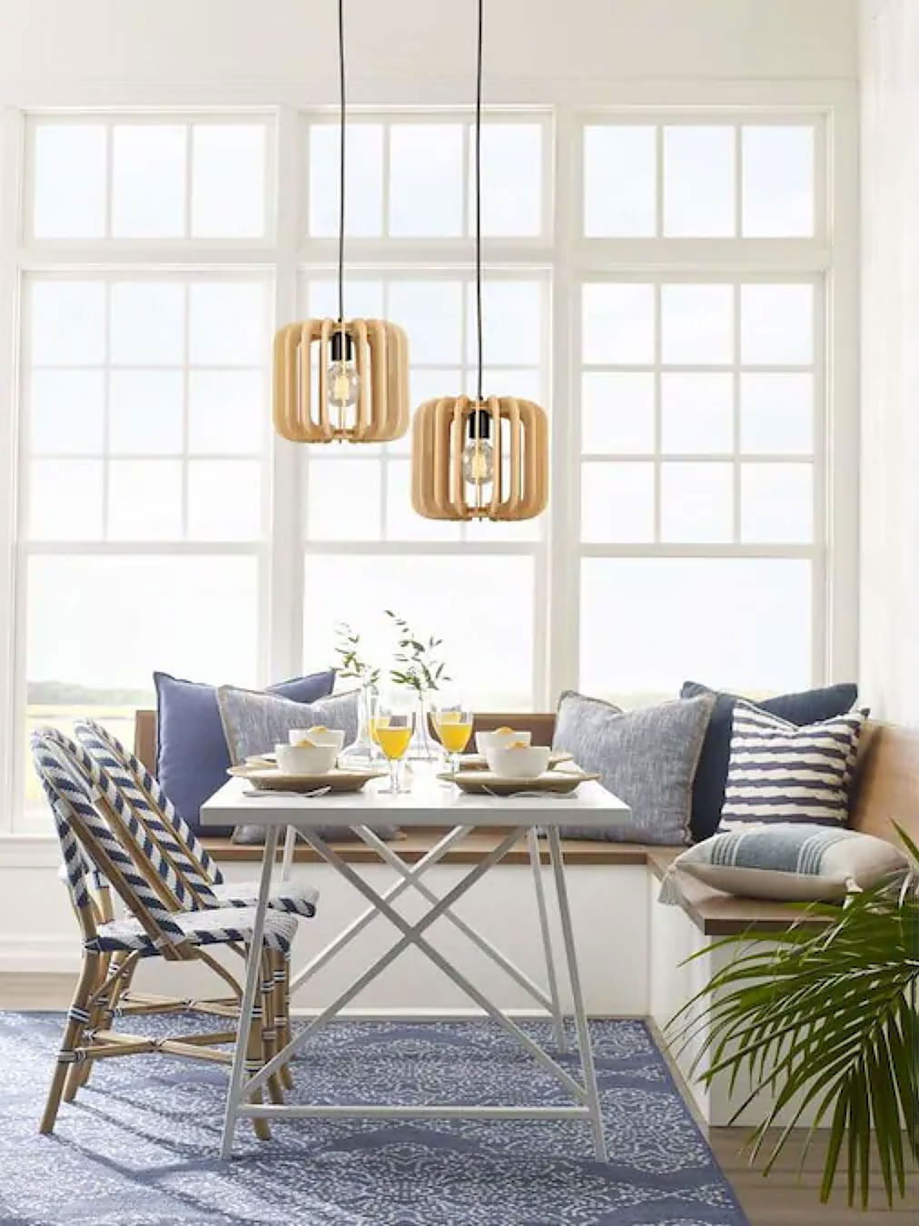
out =
[[[130,813],[108,774],[56,728],[37,729],[32,734],[32,753],[55,818],[71,828],[86,856],[108,877],[125,906],[146,921],[145,927],[156,929],[159,944],[184,940],[174,910],[153,888],[147,873],[163,883],[165,895],[170,890],[175,895],[176,884],[184,886],[173,880],[172,866]],[[105,862],[113,872],[107,872]]]

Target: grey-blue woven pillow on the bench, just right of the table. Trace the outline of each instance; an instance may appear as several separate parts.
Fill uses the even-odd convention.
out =
[[[566,826],[567,839],[607,839],[674,846],[689,842],[692,779],[714,695],[622,711],[611,702],[565,693],[553,748],[570,753],[631,809],[626,823],[597,830]]]

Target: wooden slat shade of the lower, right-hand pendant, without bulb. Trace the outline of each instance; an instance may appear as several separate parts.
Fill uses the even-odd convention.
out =
[[[483,487],[463,478],[469,418],[485,411],[494,450],[494,479]],[[484,436],[484,435],[483,435]],[[468,396],[429,400],[412,427],[412,505],[429,520],[529,520],[549,500],[549,424],[529,400]]]

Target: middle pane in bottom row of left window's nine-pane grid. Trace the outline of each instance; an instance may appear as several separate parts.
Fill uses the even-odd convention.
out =
[[[113,460],[109,463],[110,541],[175,541],[181,536],[181,463]]]

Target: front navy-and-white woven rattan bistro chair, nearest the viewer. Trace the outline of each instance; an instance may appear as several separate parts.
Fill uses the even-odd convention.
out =
[[[191,900],[183,895],[184,886],[172,864],[109,775],[70,738],[54,728],[39,728],[32,734],[32,755],[54,815],[83,946],[82,969],[40,1123],[40,1132],[50,1133],[65,1083],[70,1097],[80,1084],[74,1078],[69,1080],[69,1074],[81,1065],[145,1052],[230,1062],[232,1054],[213,1045],[240,1041],[243,1036],[238,1036],[235,1027],[161,1040],[114,1031],[110,1020],[121,986],[140,959],[159,956],[167,961],[203,962],[232,987],[233,998],[165,1002],[161,1007],[141,1002],[134,1011],[173,1011],[191,1004],[235,1022],[241,994],[239,984],[205,946],[228,946],[244,953],[252,937],[255,911],[251,907],[190,906]],[[114,916],[113,893],[124,904],[125,917]],[[246,1067],[252,1073],[276,1049],[276,972],[286,965],[295,929],[293,915],[273,911],[266,917],[262,999],[256,1002],[252,1026],[244,1040]],[[282,1100],[277,1079],[268,1089],[273,1101]],[[256,1134],[267,1138],[266,1121],[255,1121],[255,1124]]]

